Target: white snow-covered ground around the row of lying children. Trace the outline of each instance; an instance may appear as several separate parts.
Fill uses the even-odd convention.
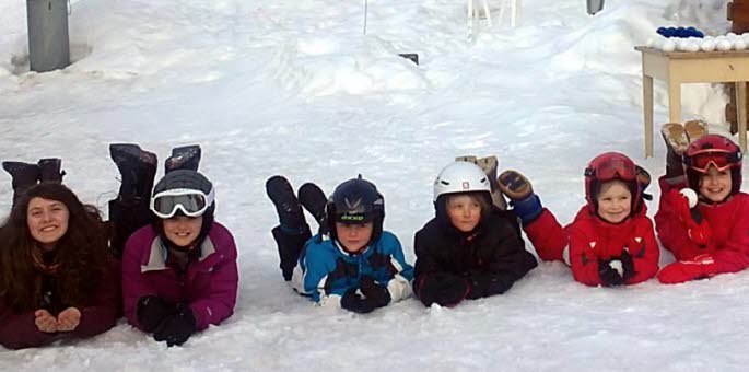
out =
[[[496,154],[570,221],[598,153],[664,171],[659,140],[643,159],[633,46],[662,25],[723,34],[726,2],[610,0],[589,16],[583,0],[526,0],[517,28],[482,23],[469,40],[465,1],[370,0],[363,35],[363,1],[79,0],[74,63],[36,74],[25,2],[0,1],[0,159],[61,156],[66,183],[105,210],[118,186],[108,143],[138,142],[161,159],[200,143],[218,219],[241,252],[236,313],[183,348],[121,323],[59,347],[0,348],[0,370],[745,371],[747,272],[601,289],[541,264],[507,294],[454,309],[407,300],[370,315],[329,312],[282,281],[264,189],[284,174],[329,193],[361,173],[385,195],[386,229],[413,261],[437,172],[456,155]],[[684,119],[725,133],[722,89],[683,91]],[[656,121],[666,98],[656,84]],[[8,210],[4,173],[0,196]]]

